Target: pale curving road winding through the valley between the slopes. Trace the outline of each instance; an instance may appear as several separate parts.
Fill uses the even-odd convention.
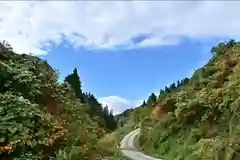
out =
[[[136,129],[130,133],[128,133],[120,143],[120,149],[124,156],[132,159],[132,160],[163,160],[154,157],[150,157],[138,151],[134,146],[134,138],[139,133],[139,129]]]

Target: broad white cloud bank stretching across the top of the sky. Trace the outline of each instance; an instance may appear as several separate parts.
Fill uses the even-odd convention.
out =
[[[18,52],[63,38],[74,47],[133,48],[132,37],[150,34],[136,47],[176,44],[180,37],[240,35],[238,1],[31,1],[0,2],[0,39]]]

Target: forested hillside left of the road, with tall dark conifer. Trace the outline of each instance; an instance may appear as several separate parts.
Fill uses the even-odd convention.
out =
[[[0,43],[1,160],[91,159],[116,125],[112,111],[81,90],[76,68],[60,83],[47,61]]]

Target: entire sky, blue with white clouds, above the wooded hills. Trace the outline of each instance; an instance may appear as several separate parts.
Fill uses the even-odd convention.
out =
[[[114,113],[203,66],[239,39],[240,1],[0,2],[0,39],[46,59],[60,80],[78,69],[84,92]]]

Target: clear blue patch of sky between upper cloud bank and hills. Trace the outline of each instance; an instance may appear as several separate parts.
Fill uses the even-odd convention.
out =
[[[100,99],[105,97],[105,100],[109,96],[121,97],[132,101],[131,107],[135,107],[151,92],[157,93],[165,85],[190,76],[194,69],[207,62],[212,45],[218,41],[218,38],[208,41],[184,39],[177,45],[114,51],[75,50],[63,42],[41,58],[59,69],[61,80],[76,67],[84,91]]]

